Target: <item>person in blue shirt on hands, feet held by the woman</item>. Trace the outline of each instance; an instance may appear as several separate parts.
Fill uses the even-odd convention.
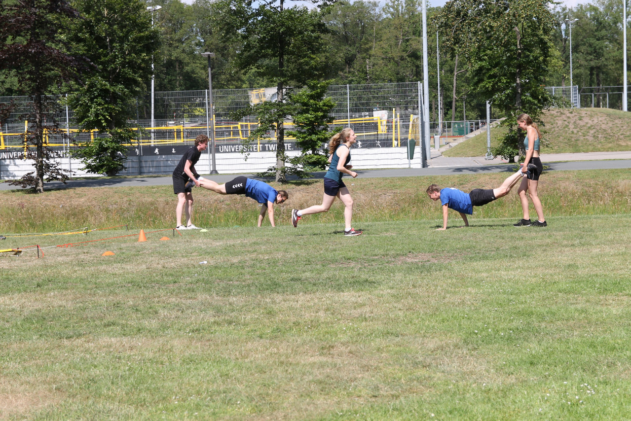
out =
[[[468,227],[467,215],[473,214],[473,206],[483,206],[497,198],[506,196],[510,189],[521,180],[523,175],[520,169],[505,179],[502,186],[497,187],[497,189],[473,189],[469,193],[464,193],[464,191],[453,187],[440,189],[436,184],[427,187],[427,196],[433,201],[440,199],[440,204],[442,205],[442,228],[438,228],[437,231],[447,229],[447,213],[449,209],[460,213],[464,220],[464,226]]]

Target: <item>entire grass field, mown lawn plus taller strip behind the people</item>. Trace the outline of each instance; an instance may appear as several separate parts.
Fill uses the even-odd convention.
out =
[[[505,175],[355,179],[365,234],[351,238],[339,208],[288,225],[319,183],[287,188],[278,228],[253,227],[249,199],[198,194],[200,218],[223,204],[235,219],[147,242],[135,236],[145,221],[170,226],[157,222],[172,213],[160,187],[1,192],[3,223],[32,220],[32,232],[59,206],[74,215],[62,224],[132,225],[2,247],[132,236],[0,254],[0,418],[628,418],[628,170],[546,173],[547,228],[513,228],[510,194],[470,228],[435,231],[430,182],[492,187]],[[215,197],[225,202],[205,201]]]

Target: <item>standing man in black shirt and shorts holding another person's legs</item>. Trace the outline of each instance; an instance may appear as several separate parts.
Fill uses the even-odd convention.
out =
[[[175,228],[178,230],[196,230],[193,225],[193,194],[191,187],[186,188],[187,181],[192,181],[199,187],[199,174],[195,170],[195,164],[199,161],[201,151],[208,147],[208,136],[200,134],[195,138],[195,146],[187,150],[182,159],[173,170],[173,193],[177,194],[177,208],[175,208]],[[186,225],[182,222],[182,208],[186,212]]]

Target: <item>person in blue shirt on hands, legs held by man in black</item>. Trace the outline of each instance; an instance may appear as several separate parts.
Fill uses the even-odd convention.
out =
[[[261,203],[259,227],[261,227],[265,219],[266,211],[272,227],[276,227],[274,223],[274,203],[283,203],[289,198],[285,190],[276,191],[274,187],[266,182],[249,179],[243,176],[237,177],[226,184],[218,184],[212,180],[201,179],[199,180],[199,186],[219,194],[245,194],[245,197],[252,198],[258,203]]]

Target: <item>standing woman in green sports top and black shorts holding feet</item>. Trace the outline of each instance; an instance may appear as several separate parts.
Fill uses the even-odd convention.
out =
[[[546,227],[545,216],[543,216],[543,205],[537,193],[537,187],[539,185],[539,177],[543,172],[543,164],[539,158],[540,149],[540,137],[539,127],[533,122],[533,119],[528,114],[520,114],[517,116],[517,125],[520,129],[526,131],[526,138],[524,139],[524,146],[526,147],[526,158],[524,159],[524,166],[521,171],[524,174],[517,194],[519,194],[519,200],[521,201],[521,208],[524,216],[519,222],[514,224],[515,227]],[[534,210],[537,213],[538,220],[531,222],[528,196],[533,201]]]

